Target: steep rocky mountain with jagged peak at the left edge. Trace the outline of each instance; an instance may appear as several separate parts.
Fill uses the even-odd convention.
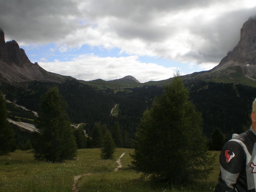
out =
[[[14,84],[35,80],[61,83],[67,78],[72,77],[45,71],[37,63],[31,63],[15,40],[5,42],[0,29],[0,81]]]

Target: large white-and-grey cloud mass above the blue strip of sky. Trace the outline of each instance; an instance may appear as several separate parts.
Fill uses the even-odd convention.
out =
[[[105,2],[107,7],[101,5],[96,9],[97,2],[87,4],[91,10],[84,11],[84,17],[90,18],[91,25],[62,38],[59,41],[62,51],[89,44],[106,49],[118,47],[121,53],[130,55],[160,56],[200,65],[219,63],[238,43],[242,24],[256,11],[253,2],[247,0],[207,1],[203,5],[190,1],[195,7],[184,1],[185,8],[179,7],[177,2],[171,3],[179,7],[177,10],[168,7],[171,4],[163,0],[158,5],[152,1],[144,8],[123,2],[129,13],[128,10],[120,11],[124,4],[113,5],[113,1]],[[166,7],[161,3],[166,3]]]

